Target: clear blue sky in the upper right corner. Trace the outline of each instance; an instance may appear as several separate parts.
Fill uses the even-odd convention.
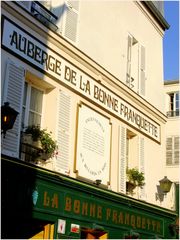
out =
[[[170,28],[163,39],[164,80],[179,79],[179,1],[164,1],[165,19]]]

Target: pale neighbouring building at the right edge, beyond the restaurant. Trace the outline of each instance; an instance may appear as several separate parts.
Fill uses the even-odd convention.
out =
[[[174,194],[177,196],[174,209],[179,210],[179,81],[165,81],[166,97],[166,171],[174,182]],[[175,204],[175,203],[174,203]]]

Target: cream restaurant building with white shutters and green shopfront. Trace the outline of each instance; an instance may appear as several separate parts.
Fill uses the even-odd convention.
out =
[[[166,174],[168,24],[155,5],[9,1],[1,7],[1,104],[19,113],[2,137],[4,238],[175,238],[174,200],[157,198]],[[31,125],[57,141],[51,158],[25,141]],[[126,188],[131,168],[145,176],[133,193]],[[11,218],[18,219],[13,231]]]

